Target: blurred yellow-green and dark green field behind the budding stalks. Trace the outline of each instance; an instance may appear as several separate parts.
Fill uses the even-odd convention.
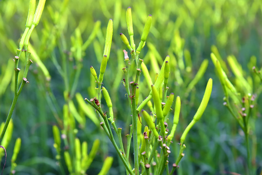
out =
[[[178,174],[180,175],[221,175],[226,172],[245,174],[246,152],[245,138],[237,122],[223,105],[223,90],[214,72],[214,66],[209,66],[203,78],[188,95],[186,87],[204,59],[210,60],[211,46],[215,45],[226,61],[227,55],[233,54],[245,71],[245,76],[251,76],[251,56],[257,58],[257,67],[262,67],[262,1],[261,0],[47,0],[39,25],[31,36],[31,45],[50,73],[51,80],[34,62],[28,74],[27,84],[19,96],[13,113],[14,130],[12,140],[7,147],[7,163],[4,172],[8,174],[11,167],[11,155],[15,140],[22,140],[21,150],[17,157],[17,174],[19,175],[58,175],[60,170],[56,164],[56,152],[53,148],[52,125],[55,120],[52,106],[48,105],[49,88],[57,101],[55,106],[58,116],[61,116],[64,98],[64,81],[52,61],[56,57],[62,64],[63,57],[67,60],[69,84],[74,83],[77,61],[75,51],[75,30],[81,32],[83,43],[91,34],[95,22],[101,21],[97,34],[82,54],[82,70],[76,92],[83,97],[93,98],[95,84],[90,76],[89,67],[97,72],[100,68],[105,44],[107,22],[113,19],[113,41],[110,59],[104,76],[104,86],[107,88],[114,105],[117,123],[128,132],[131,119],[128,119],[128,101],[122,86],[122,67],[124,59],[122,50],[125,48],[119,33],[128,35],[125,22],[125,11],[132,8],[135,43],[139,43],[144,23],[149,14],[152,15],[152,26],[147,43],[140,54],[150,74],[154,77],[155,69],[151,67],[153,59],[160,65],[166,55],[170,55],[174,66],[171,70],[172,80],[169,80],[169,92],[179,95],[182,100],[180,124],[175,138],[179,138],[186,125],[192,120],[201,102],[206,83],[213,79],[213,90],[210,103],[199,123],[189,133],[186,140],[187,149],[182,159]],[[0,122],[4,122],[13,99],[13,61],[16,55],[19,39],[25,29],[29,0],[0,0]],[[213,48],[214,49],[214,48]],[[184,56],[189,51],[192,63]],[[72,54],[71,54],[72,53]],[[20,65],[24,62],[21,58]],[[179,62],[180,60],[180,62]],[[182,60],[182,62],[181,62]],[[229,69],[229,67],[227,67]],[[179,70],[179,80],[175,71]],[[8,72],[8,73],[6,73]],[[7,75],[10,75],[8,78]],[[12,74],[13,73],[13,74]],[[4,78],[7,77],[7,78]],[[178,77],[178,78],[177,78]],[[228,77],[234,82],[231,70]],[[146,86],[144,86],[146,87]],[[254,87],[256,88],[256,87]],[[146,97],[148,90],[141,93]],[[77,102],[71,97],[76,107]],[[251,138],[256,136],[256,149],[252,157],[253,166],[262,166],[262,104],[258,96],[255,129]],[[103,103],[103,102],[102,102]],[[105,102],[104,102],[105,104]],[[79,110],[81,115],[85,115]],[[101,142],[100,149],[87,170],[88,175],[96,175],[102,168],[105,157],[114,157],[109,174],[124,174],[123,167],[110,140],[101,132],[101,128],[86,118],[85,126],[79,127],[77,137],[92,145],[95,139]],[[174,141],[169,162],[175,161],[178,146]],[[254,146],[254,144],[253,144]],[[88,152],[91,146],[88,146]],[[255,147],[252,148],[254,151]],[[63,150],[63,147],[62,147]],[[1,161],[1,167],[3,160]],[[65,162],[63,163],[67,172]],[[67,174],[67,173],[66,173]]]

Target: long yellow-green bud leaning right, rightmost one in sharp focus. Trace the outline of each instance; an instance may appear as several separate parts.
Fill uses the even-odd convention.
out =
[[[201,116],[203,115],[208,103],[209,103],[209,99],[210,99],[210,95],[212,92],[212,79],[210,78],[203,96],[203,99],[201,101],[201,104],[199,105],[193,120],[195,120],[196,122],[199,121],[199,119],[201,118]]]

